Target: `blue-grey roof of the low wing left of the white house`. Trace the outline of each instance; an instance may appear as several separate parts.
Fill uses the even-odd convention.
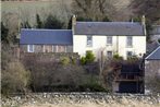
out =
[[[73,35],[70,29],[22,28],[20,44],[73,45]]]

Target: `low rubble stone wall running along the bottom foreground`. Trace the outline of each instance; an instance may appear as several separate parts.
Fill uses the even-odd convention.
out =
[[[86,102],[96,104],[127,104],[127,107],[139,107],[135,106],[135,103],[148,104],[147,107],[159,107],[153,105],[160,105],[160,95],[132,95],[132,94],[108,94],[108,93],[30,93],[27,95],[12,95],[10,97],[2,97],[2,107],[14,107],[27,105],[41,105],[41,104],[83,104]],[[33,107],[33,106],[32,106]],[[52,107],[52,106],[48,106]],[[64,106],[63,106],[64,107]],[[66,106],[67,107],[67,106]],[[79,107],[79,106],[78,106]],[[95,106],[94,106],[95,107]],[[99,107],[99,106],[98,106]],[[108,107],[108,106],[101,106]],[[116,106],[119,107],[119,106]],[[124,106],[121,106],[124,107]],[[125,106],[126,107],[126,106]],[[144,107],[144,106],[140,106]]]

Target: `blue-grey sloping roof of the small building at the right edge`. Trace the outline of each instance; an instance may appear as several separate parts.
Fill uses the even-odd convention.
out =
[[[160,60],[160,46],[155,49],[148,57],[146,57],[146,60]]]

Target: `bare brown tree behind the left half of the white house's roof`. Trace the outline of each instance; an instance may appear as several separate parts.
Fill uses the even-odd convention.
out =
[[[113,0],[73,0],[72,7],[77,15],[93,21],[102,21],[103,17],[112,17],[115,13],[113,3]]]

